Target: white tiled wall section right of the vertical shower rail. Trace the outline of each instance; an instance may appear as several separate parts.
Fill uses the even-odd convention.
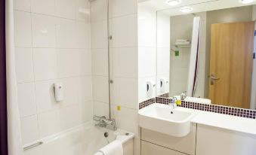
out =
[[[117,126],[134,132],[134,154],[140,153],[137,123],[137,0],[109,0],[112,114]],[[116,106],[121,110],[117,111]]]

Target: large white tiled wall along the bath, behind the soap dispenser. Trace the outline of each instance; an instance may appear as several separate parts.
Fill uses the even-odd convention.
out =
[[[23,144],[92,119],[89,8],[87,0],[14,1]],[[63,102],[54,100],[55,82]]]

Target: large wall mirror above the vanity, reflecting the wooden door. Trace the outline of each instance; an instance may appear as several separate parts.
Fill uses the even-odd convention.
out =
[[[255,20],[238,0],[157,11],[156,96],[255,109]]]

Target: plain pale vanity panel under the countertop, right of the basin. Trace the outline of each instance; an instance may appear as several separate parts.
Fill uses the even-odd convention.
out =
[[[198,124],[196,155],[216,154],[255,155],[256,136]]]

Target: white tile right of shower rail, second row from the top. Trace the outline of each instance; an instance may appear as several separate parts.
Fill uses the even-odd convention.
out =
[[[137,14],[112,20],[113,47],[137,46]]]

